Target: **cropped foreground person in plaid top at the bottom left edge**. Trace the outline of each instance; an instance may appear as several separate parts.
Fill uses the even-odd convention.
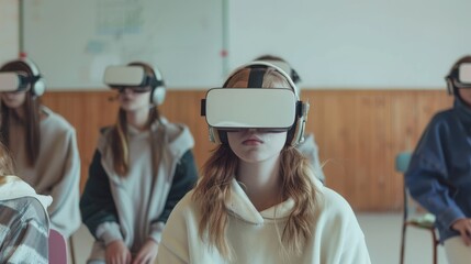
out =
[[[14,175],[0,142],[0,263],[48,263],[51,196],[41,196]]]

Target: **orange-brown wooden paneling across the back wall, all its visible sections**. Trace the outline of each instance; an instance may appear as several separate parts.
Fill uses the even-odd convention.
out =
[[[116,120],[112,91],[51,91],[44,103],[66,118],[77,131],[81,157],[81,188],[94,153],[99,129]],[[202,90],[170,90],[160,106],[171,122],[186,123],[192,132],[197,166],[201,168],[216,147],[209,142],[200,117]],[[402,175],[394,172],[394,156],[413,150],[439,110],[452,97],[444,90],[303,90],[311,110],[307,132],[314,132],[324,162],[326,185],[341,194],[356,210],[397,210],[402,207]]]

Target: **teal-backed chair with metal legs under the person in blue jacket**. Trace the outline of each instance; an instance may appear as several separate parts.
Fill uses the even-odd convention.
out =
[[[395,169],[404,176],[404,173],[407,170],[408,162],[411,161],[411,152],[401,152],[395,156]],[[405,180],[404,180],[405,182]],[[402,238],[401,238],[401,258],[400,263],[404,263],[404,251],[405,251],[405,232],[407,227],[414,227],[422,230],[426,230],[431,234],[431,245],[433,245],[433,263],[437,263],[437,246],[439,241],[437,239],[437,233],[435,230],[435,216],[427,212],[416,201],[410,196],[407,186],[403,182],[403,197],[404,197],[404,211],[403,211],[403,221],[402,221]]]

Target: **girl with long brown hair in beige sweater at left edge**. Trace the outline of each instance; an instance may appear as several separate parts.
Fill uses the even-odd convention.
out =
[[[0,74],[0,135],[13,155],[16,175],[37,194],[53,197],[47,209],[51,227],[68,238],[80,227],[76,131],[42,105],[45,82],[32,61],[8,62]]]

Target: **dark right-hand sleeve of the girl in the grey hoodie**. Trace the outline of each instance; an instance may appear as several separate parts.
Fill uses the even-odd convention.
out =
[[[170,187],[165,208],[157,221],[152,223],[150,237],[155,241],[160,241],[161,231],[167,222],[170,212],[183,196],[191,190],[198,180],[198,170],[191,150],[187,151],[177,164],[173,180]]]

